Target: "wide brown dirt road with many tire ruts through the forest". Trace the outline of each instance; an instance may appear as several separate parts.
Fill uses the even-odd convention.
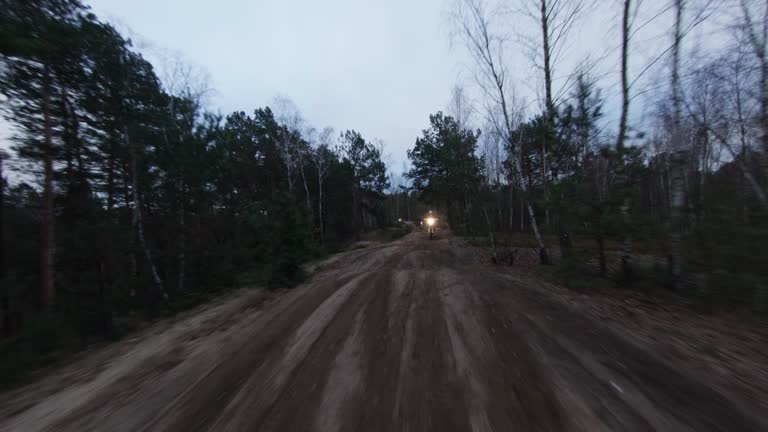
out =
[[[768,430],[765,401],[462,253],[413,233],[241,293],[3,396],[0,430]]]

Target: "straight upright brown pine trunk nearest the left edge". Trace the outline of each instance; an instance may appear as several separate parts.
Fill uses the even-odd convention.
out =
[[[47,69],[47,68],[46,68]],[[48,71],[43,78],[43,133],[44,133],[44,177],[43,177],[43,206],[41,209],[41,292],[40,306],[50,309],[55,300],[54,263],[56,257],[56,239],[54,231],[53,209],[53,132],[51,131],[50,113],[50,76]]]

